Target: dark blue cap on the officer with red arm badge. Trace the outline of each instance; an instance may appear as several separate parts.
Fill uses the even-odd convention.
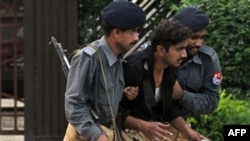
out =
[[[209,24],[209,17],[206,13],[194,7],[183,8],[173,16],[173,19],[189,27],[193,32],[205,29]]]

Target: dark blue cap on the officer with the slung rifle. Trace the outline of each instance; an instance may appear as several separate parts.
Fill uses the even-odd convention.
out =
[[[146,15],[132,2],[113,1],[102,10],[101,18],[115,28],[134,29],[144,24]]]

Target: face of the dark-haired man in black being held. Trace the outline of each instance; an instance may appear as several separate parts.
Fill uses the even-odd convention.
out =
[[[163,57],[165,64],[167,66],[179,67],[181,62],[187,57],[186,47],[188,43],[189,39],[186,39],[176,45],[171,45]]]

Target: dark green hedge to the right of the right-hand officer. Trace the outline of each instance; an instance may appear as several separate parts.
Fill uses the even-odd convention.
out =
[[[223,88],[249,89],[250,86],[250,1],[182,0],[171,9],[195,6],[211,20],[205,44],[217,51],[224,74]]]

